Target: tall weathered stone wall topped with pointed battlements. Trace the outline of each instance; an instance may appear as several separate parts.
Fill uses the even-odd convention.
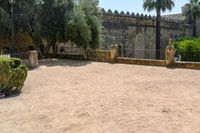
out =
[[[102,9],[104,42],[103,47],[119,45],[120,55],[135,58],[154,58],[156,48],[156,17],[143,14],[130,14],[118,11],[107,12]],[[169,38],[178,38],[191,35],[191,25],[186,25],[181,20],[162,19],[161,23],[161,50],[167,44]],[[138,50],[143,50],[138,52]],[[154,51],[149,54],[145,51]],[[161,52],[162,53],[162,52]],[[163,52],[164,53],[164,52]],[[150,57],[152,56],[152,57]]]

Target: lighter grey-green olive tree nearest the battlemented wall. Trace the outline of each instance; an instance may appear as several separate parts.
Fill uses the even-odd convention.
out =
[[[101,43],[101,14],[97,0],[79,0],[73,18],[66,23],[66,36],[84,51],[96,49]]]

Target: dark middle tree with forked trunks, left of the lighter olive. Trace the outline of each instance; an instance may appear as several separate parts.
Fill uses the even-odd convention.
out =
[[[65,36],[65,22],[73,13],[73,0],[43,0],[40,25],[42,37],[47,40],[46,54],[53,48],[57,51],[56,42],[68,40]]]

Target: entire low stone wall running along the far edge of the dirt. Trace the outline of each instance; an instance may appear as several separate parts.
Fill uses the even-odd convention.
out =
[[[116,57],[117,53],[112,50],[88,50],[87,56],[89,61],[96,62],[107,62],[107,63],[122,63],[122,64],[133,64],[133,65],[147,65],[147,66],[162,66],[162,67],[174,67],[174,68],[186,68],[186,69],[199,69],[200,63],[195,62],[173,62],[171,65],[167,65],[166,60],[151,60],[151,59],[135,59],[135,58],[124,58]],[[86,60],[83,55],[66,55],[57,54],[53,56],[49,54],[52,58],[62,58],[62,59],[74,59],[74,60]],[[166,59],[168,59],[166,57]],[[171,58],[170,58],[171,59]]]

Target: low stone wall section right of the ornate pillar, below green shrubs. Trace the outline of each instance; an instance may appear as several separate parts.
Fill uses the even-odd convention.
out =
[[[175,67],[200,70],[200,63],[199,62],[176,62]]]

